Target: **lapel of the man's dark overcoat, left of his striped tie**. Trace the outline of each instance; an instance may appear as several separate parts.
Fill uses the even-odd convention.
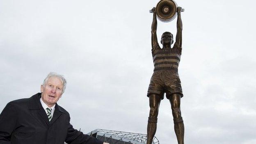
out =
[[[47,114],[40,103],[41,93],[35,94],[30,98],[29,109],[35,119],[43,124],[49,125]]]

